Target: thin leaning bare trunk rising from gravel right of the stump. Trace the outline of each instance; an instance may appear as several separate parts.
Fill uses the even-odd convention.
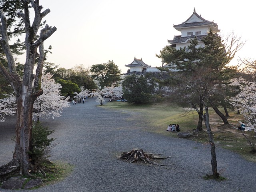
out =
[[[207,129],[210,145],[211,145],[211,164],[212,164],[212,175],[214,178],[218,178],[219,174],[217,171],[217,160],[216,160],[216,152],[215,152],[215,144],[214,144],[214,139],[212,135],[212,130],[210,128],[210,120],[209,120],[209,112],[208,112],[208,107],[205,108],[205,114],[204,114],[204,123]]]

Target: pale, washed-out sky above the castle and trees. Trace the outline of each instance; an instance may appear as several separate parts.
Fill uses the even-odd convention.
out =
[[[256,3],[252,0],[41,0],[51,12],[44,18],[57,31],[45,41],[52,45],[47,62],[86,68],[113,60],[122,72],[136,58],[160,66],[155,55],[180,32],[173,28],[196,12],[218,24],[222,35],[235,34],[247,41],[237,54],[256,59],[254,24]],[[44,10],[43,9],[43,10]],[[236,64],[234,58],[232,64]],[[25,63],[24,56],[18,61]]]

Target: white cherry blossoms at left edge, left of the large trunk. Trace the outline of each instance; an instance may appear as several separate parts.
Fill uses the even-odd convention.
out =
[[[0,122],[5,121],[5,116],[16,113],[16,97],[6,95],[6,98],[0,99]]]

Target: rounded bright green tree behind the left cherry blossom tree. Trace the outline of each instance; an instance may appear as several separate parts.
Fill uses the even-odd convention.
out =
[[[70,96],[72,98],[74,96],[74,92],[81,91],[78,85],[72,83],[70,80],[59,79],[56,81],[56,83],[61,84],[62,89],[60,90],[60,93],[65,97]]]

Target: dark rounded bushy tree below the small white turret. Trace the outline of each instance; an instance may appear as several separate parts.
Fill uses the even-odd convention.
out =
[[[153,93],[153,83],[143,76],[130,75],[126,76],[122,82],[124,98],[135,104],[150,102]]]

